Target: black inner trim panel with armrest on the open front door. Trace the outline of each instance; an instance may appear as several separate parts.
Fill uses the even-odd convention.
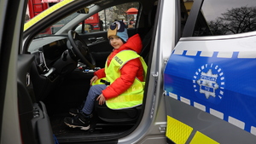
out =
[[[34,55],[18,56],[18,106],[22,139],[25,143],[53,144],[54,139],[46,108],[43,102],[37,103],[33,94],[30,71],[34,59]]]

